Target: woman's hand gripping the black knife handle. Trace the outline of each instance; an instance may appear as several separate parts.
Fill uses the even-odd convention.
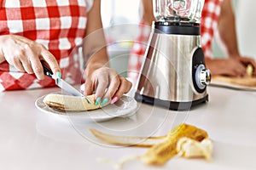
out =
[[[5,35],[0,37],[0,58],[19,71],[35,74],[39,80],[44,79],[43,66],[40,59],[44,59],[54,73],[61,71],[55,56],[50,54],[44,46],[26,37]]]

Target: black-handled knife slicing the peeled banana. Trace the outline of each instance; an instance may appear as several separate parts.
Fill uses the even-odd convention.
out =
[[[53,79],[55,79],[55,83],[56,85],[63,89],[64,91],[66,91],[68,94],[72,94],[73,96],[80,96],[83,97],[84,99],[86,99],[86,101],[89,104],[92,104],[92,101],[90,99],[88,99],[86,96],[84,96],[84,94],[81,94],[79,92],[79,90],[77,90],[76,88],[73,88],[72,85],[70,85],[69,83],[67,83],[66,81],[64,81],[61,78],[58,77],[54,77],[53,72],[49,69],[49,67],[47,66],[46,61],[41,60],[41,64],[43,65],[43,69],[44,69],[44,75],[51,77]]]

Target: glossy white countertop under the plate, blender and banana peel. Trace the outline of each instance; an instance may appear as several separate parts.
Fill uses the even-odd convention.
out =
[[[39,111],[35,100],[59,88],[0,93],[0,169],[87,170],[113,169],[99,158],[112,161],[143,155],[148,149],[110,147],[93,139],[88,127],[106,133],[147,136],[164,135],[174,124],[201,127],[213,140],[212,162],[177,158],[164,167],[148,167],[140,161],[123,169],[256,169],[256,93],[208,88],[210,101],[192,111],[166,111],[139,105],[131,118],[109,122],[73,122]]]

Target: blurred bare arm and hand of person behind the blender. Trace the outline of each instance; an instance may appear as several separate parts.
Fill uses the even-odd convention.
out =
[[[236,18],[231,0],[223,0],[218,20],[218,36],[223,43],[227,59],[206,59],[212,76],[247,77],[247,65],[253,65],[256,75],[256,63],[250,57],[241,56],[236,37]]]

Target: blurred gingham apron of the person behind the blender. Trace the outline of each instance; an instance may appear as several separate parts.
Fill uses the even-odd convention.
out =
[[[205,0],[201,14],[201,45],[206,57],[212,57],[212,38],[218,26],[220,3],[222,0]],[[128,65],[128,77],[137,81],[137,77],[143,62],[143,55],[147,48],[149,32],[148,26],[140,24],[141,34],[131,47]]]

